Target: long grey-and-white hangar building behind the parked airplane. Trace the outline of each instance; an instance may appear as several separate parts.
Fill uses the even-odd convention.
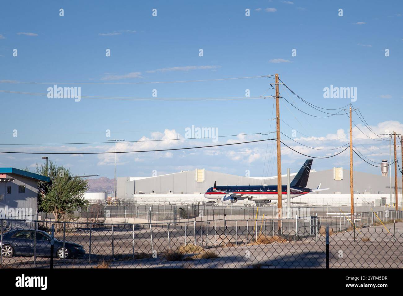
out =
[[[295,173],[291,174],[291,180]],[[282,184],[286,184],[287,176],[282,176]],[[118,177],[116,195],[122,199],[135,199],[145,203],[197,203],[211,201],[204,198],[206,190],[217,182],[224,185],[275,185],[277,176],[269,178],[243,177],[231,174],[212,172],[204,169],[182,171],[173,174],[150,177]],[[307,205],[349,205],[350,203],[350,171],[333,168],[316,172],[311,170],[308,188],[330,188],[321,194],[310,193],[292,199],[293,203]],[[399,204],[401,204],[401,177],[398,181]],[[354,172],[354,197],[357,205],[388,205],[395,200],[395,182],[390,186],[389,176]]]

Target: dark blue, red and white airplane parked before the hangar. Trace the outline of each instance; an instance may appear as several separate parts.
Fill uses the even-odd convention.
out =
[[[307,159],[297,175],[290,183],[290,197],[299,197],[311,192],[329,190],[330,188],[320,188],[322,183],[316,189],[307,188],[309,173],[311,171],[313,159]],[[281,199],[287,199],[287,185],[281,186]],[[252,186],[214,186],[208,188],[204,197],[207,199],[221,199],[223,203],[236,203],[241,200],[268,201],[277,200],[277,185],[252,185]]]

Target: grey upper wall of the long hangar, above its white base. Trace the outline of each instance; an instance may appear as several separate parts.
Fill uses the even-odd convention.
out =
[[[294,174],[295,175],[295,172]],[[334,180],[333,169],[311,172],[308,180],[307,187],[316,188],[322,183],[321,188],[330,188],[330,190],[321,193],[334,194],[348,194],[350,193],[350,171],[343,170],[343,179]],[[167,174],[162,176],[152,177],[120,177],[117,184],[117,196],[121,198],[133,198],[133,194],[140,192],[145,194],[203,194],[206,190],[217,182],[220,185],[276,185],[277,178],[271,177],[267,179],[257,179],[252,177],[235,176],[230,174],[205,171],[205,178],[203,182],[196,181],[195,170],[178,172],[174,174]],[[291,176],[292,180],[293,176]],[[282,183],[286,184],[287,177],[283,176]],[[401,182],[398,182],[398,191],[401,193]],[[395,182],[392,182],[392,193],[395,192]],[[390,180],[389,176],[383,177],[381,174],[374,175],[365,172],[354,172],[354,192],[356,194],[369,193],[385,194],[390,193]]]

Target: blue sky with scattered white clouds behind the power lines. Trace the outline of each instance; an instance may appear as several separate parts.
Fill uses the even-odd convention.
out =
[[[59,9],[64,9],[64,17]],[[152,16],[152,9],[157,16]],[[245,9],[250,16],[245,16]],[[343,9],[339,17],[338,10]],[[403,5],[401,1],[49,1],[3,3],[0,10],[0,89],[46,93],[48,87],[81,87],[81,95],[110,97],[251,97],[273,95],[273,79],[253,78],[189,83],[108,85],[254,77],[279,73],[295,93],[323,108],[339,108],[349,99],[324,99],[324,87],[357,87],[359,108],[376,133],[403,133],[401,123]],[[12,56],[13,49],[18,56]],[[106,49],[111,56],[106,57]],[[199,56],[203,49],[204,56]],[[291,56],[292,50],[297,56]],[[385,56],[388,49],[390,56]],[[36,82],[21,84],[7,82]],[[66,83],[66,84],[61,84]],[[70,83],[70,84],[69,84]],[[301,110],[320,113],[280,87]],[[218,135],[274,131],[273,99],[226,101],[122,101],[115,99],[48,99],[41,95],[0,93],[0,143],[104,142],[108,139],[183,138],[185,128],[218,128]],[[318,149],[348,142],[349,119],[315,118],[283,99],[281,130]],[[370,130],[354,122],[366,135]],[[13,130],[18,137],[13,137]],[[106,137],[106,130],[111,137]],[[338,132],[339,130],[339,132]],[[310,137],[306,138],[303,134]],[[338,135],[338,136],[334,136]],[[345,135],[345,136],[343,136]],[[389,159],[388,141],[368,139],[353,130],[356,149],[369,159]],[[341,137],[340,137],[341,136]],[[322,138],[321,138],[322,137]],[[327,138],[326,138],[327,137]],[[340,139],[332,140],[334,138]],[[267,138],[267,136],[266,136]],[[264,139],[239,136],[208,140],[125,143],[119,151],[177,148]],[[309,149],[283,137],[287,145],[317,157],[335,151]],[[273,143],[215,149],[136,153],[118,156],[117,176],[150,176],[206,168],[251,176],[276,173]],[[1,145],[2,151],[114,151],[113,144]],[[337,150],[336,150],[337,151]],[[399,150],[398,150],[399,151]],[[283,172],[297,170],[305,156],[283,153]],[[398,153],[400,154],[400,153]],[[45,154],[43,154],[45,155]],[[16,168],[41,163],[42,155],[2,154],[0,166]],[[114,175],[113,155],[48,155],[77,174]],[[355,156],[355,155],[354,155]],[[265,161],[266,159],[266,161]],[[348,151],[316,159],[314,169],[349,168]],[[355,169],[379,173],[355,156]]]

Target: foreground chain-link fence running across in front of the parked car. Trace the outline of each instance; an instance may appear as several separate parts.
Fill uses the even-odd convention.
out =
[[[403,267],[403,223],[348,223],[339,228],[343,223],[316,216],[144,224],[3,219],[0,265],[48,268],[53,256],[54,268]]]

